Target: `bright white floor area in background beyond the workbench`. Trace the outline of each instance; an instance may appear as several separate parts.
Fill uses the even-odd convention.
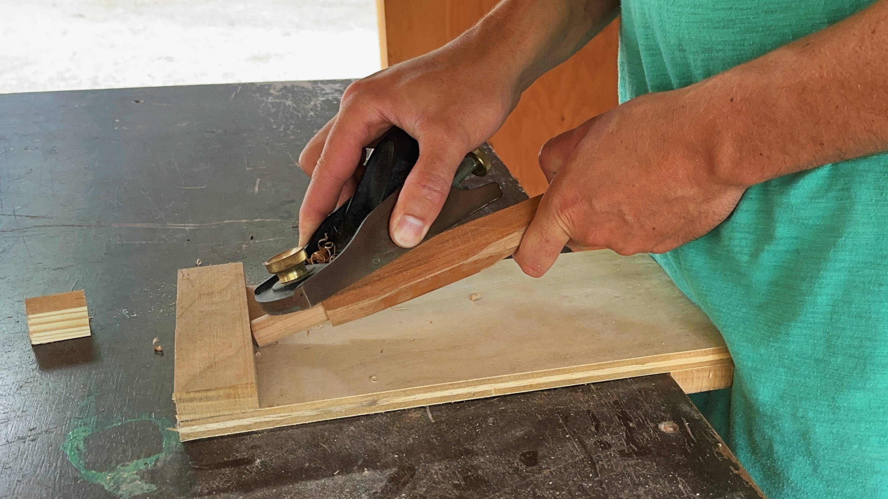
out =
[[[0,0],[0,93],[356,78],[374,0]]]

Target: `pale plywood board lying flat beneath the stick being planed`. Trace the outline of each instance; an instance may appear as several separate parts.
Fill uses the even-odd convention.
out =
[[[650,257],[607,250],[562,255],[539,280],[504,260],[260,353],[259,408],[180,424],[183,440],[730,362]]]

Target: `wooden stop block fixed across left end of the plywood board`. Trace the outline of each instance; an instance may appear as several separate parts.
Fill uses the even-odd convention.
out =
[[[179,422],[259,407],[241,263],[178,271],[173,384]]]

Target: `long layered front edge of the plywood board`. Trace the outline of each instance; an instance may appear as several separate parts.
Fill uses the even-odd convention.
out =
[[[724,365],[731,359],[724,346],[687,352],[672,352],[628,360],[611,360],[568,368],[492,376],[446,384],[418,386],[389,392],[354,395],[331,400],[302,402],[259,408],[231,416],[184,421],[178,425],[179,438],[203,439],[240,432],[253,432],[290,424],[304,424],[390,410],[533,392],[574,384],[586,384],[626,377],[685,371]]]

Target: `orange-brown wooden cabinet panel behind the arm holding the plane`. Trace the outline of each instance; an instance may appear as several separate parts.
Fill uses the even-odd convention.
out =
[[[377,0],[383,67],[433,51],[472,27],[497,0]],[[528,195],[546,179],[536,155],[543,143],[617,104],[619,21],[536,81],[490,139]]]

